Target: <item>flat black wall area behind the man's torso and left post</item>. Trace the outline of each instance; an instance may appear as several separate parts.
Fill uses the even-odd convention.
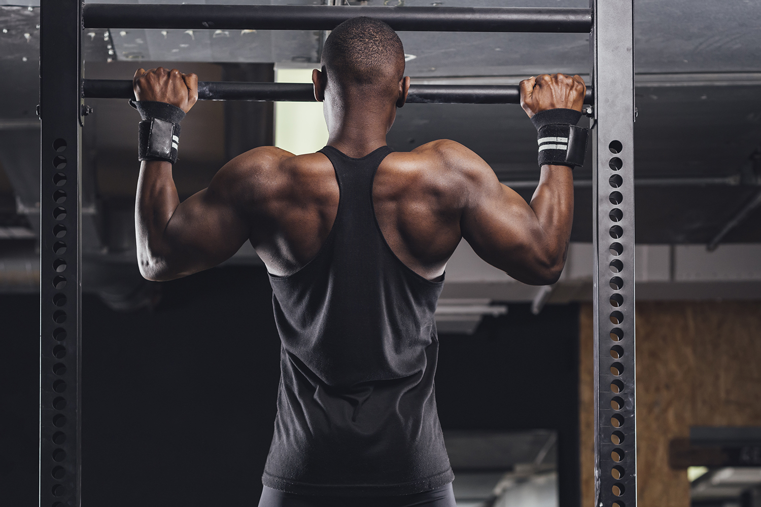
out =
[[[264,268],[159,284],[152,310],[82,303],[84,505],[256,505],[272,438],[279,338]],[[159,297],[160,295],[160,297]],[[0,296],[2,505],[37,505],[39,299]],[[579,505],[578,307],[511,305],[441,336],[447,429],[557,429],[560,505]]]

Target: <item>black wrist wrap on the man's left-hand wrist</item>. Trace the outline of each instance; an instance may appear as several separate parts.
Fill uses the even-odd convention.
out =
[[[138,126],[138,160],[177,162],[180,122],[185,112],[165,102],[130,100],[129,104],[143,119]]]

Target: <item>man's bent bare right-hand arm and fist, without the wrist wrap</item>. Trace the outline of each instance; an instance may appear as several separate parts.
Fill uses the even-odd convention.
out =
[[[581,110],[584,91],[578,76],[544,74],[521,81],[521,104],[529,116],[546,109]],[[533,285],[555,283],[571,237],[572,169],[542,166],[539,185],[527,204],[498,181],[486,162],[475,154],[467,158],[460,162],[466,166],[467,189],[460,218],[463,237],[479,257],[511,277]]]

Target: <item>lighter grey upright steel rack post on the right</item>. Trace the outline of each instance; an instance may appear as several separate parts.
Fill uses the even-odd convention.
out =
[[[591,5],[595,507],[635,507],[633,0]]]

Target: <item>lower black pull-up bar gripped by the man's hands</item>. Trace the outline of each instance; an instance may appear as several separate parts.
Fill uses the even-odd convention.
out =
[[[82,92],[88,99],[132,99],[132,81],[84,79]],[[587,100],[593,97],[587,87]],[[242,83],[200,81],[199,100],[272,100],[277,102],[314,102],[311,83]],[[517,104],[521,92],[515,84],[413,84],[409,103]]]

